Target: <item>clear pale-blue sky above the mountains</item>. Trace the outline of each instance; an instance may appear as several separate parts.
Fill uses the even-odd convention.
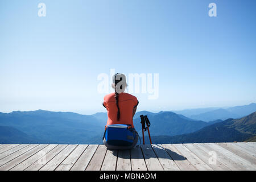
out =
[[[38,4],[46,4],[46,17]],[[209,17],[209,3],[217,17]],[[138,110],[256,102],[256,1],[0,1],[0,111],[105,111],[100,73],[159,73]]]

